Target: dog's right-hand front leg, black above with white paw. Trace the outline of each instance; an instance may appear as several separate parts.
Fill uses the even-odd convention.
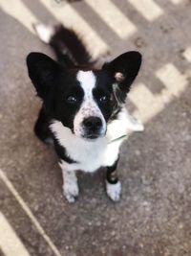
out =
[[[121,183],[117,177],[117,162],[107,167],[106,173],[106,191],[109,198],[114,201],[119,200],[121,194]]]

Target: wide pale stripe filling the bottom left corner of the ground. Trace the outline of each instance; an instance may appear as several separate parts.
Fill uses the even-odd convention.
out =
[[[30,253],[27,251],[26,247],[15,231],[11,227],[9,221],[6,217],[0,212],[0,249],[5,256],[30,256]]]

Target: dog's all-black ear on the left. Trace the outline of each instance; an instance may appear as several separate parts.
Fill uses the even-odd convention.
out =
[[[53,58],[41,53],[29,54],[27,66],[37,95],[45,100],[55,85],[57,75],[60,71],[64,71],[63,68]]]

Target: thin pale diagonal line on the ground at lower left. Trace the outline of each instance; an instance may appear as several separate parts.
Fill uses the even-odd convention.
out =
[[[58,249],[56,248],[56,246],[51,241],[50,237],[45,233],[45,231],[42,228],[42,226],[40,225],[40,223],[37,221],[37,219],[32,214],[32,211],[29,208],[29,206],[26,204],[26,202],[23,200],[23,198],[21,198],[21,196],[18,194],[18,192],[16,191],[16,189],[12,185],[12,183],[9,180],[9,178],[7,177],[7,175],[5,175],[1,169],[0,169],[0,177],[4,181],[4,183],[6,184],[8,189],[11,191],[11,194],[13,195],[13,197],[16,198],[16,200],[18,201],[18,203],[20,204],[22,209],[28,215],[28,217],[32,221],[33,225],[36,227],[37,231],[44,238],[46,243],[49,244],[49,246],[52,248],[54,255],[61,256],[61,254],[59,253]],[[19,255],[20,256],[20,254],[15,254],[15,255]]]

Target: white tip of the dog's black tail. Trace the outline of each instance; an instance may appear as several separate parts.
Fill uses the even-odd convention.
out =
[[[38,37],[45,43],[50,43],[54,34],[54,28],[44,24],[33,24],[33,28],[36,31]]]

